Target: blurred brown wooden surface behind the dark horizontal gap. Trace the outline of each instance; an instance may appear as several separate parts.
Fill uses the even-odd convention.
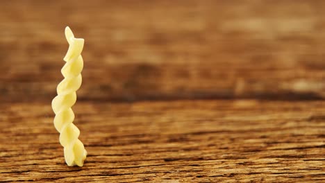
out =
[[[325,1],[0,1],[0,102],[51,103],[65,26],[79,101],[324,98]]]

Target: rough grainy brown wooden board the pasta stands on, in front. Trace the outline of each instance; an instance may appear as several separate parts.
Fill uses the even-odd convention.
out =
[[[47,103],[0,104],[0,181],[324,182],[324,102],[77,103],[68,167]]]

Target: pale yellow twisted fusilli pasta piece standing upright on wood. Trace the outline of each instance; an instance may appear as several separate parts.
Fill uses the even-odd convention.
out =
[[[69,43],[67,55],[65,55],[66,64],[61,69],[65,77],[58,85],[56,92],[58,96],[53,98],[52,108],[56,114],[54,126],[60,132],[60,143],[64,147],[65,162],[68,166],[83,166],[87,156],[87,151],[83,143],[78,139],[80,131],[72,123],[74,121],[74,112],[71,107],[76,103],[76,91],[81,87],[81,71],[83,70],[83,51],[84,40],[75,38],[69,27],[65,28],[65,37]]]

